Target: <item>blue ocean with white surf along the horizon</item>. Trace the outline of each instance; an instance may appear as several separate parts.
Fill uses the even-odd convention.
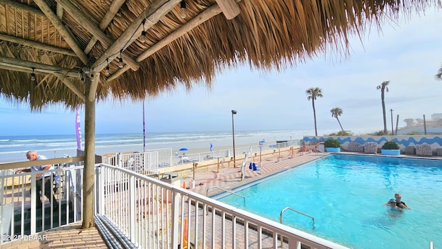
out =
[[[321,131],[331,133],[333,131]],[[235,145],[249,145],[260,140],[267,144],[277,140],[300,140],[303,136],[312,136],[314,131],[307,130],[278,130],[278,131],[235,131]],[[84,149],[84,138],[81,138],[81,148]],[[182,147],[188,149],[207,148],[233,145],[231,131],[198,131],[198,132],[164,132],[146,133],[145,149],[171,148],[177,151]],[[33,149],[47,158],[76,156],[77,138],[75,133],[69,135],[28,135],[0,136],[0,163],[26,160],[26,151]],[[142,151],[143,133],[96,134],[95,154]]]

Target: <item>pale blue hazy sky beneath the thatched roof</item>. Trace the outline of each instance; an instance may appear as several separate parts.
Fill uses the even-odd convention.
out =
[[[405,127],[405,118],[430,120],[442,113],[442,12],[427,10],[407,21],[372,28],[350,39],[349,56],[319,54],[283,71],[262,72],[242,66],[215,76],[211,90],[177,89],[145,101],[146,132],[229,131],[231,110],[236,131],[307,130],[314,135],[311,101],[305,91],[322,89],[315,102],[318,131],[340,127],[330,110],[343,109],[343,128],[355,134],[383,130],[381,91],[385,93],[387,128]],[[142,102],[97,103],[96,133],[142,133]],[[392,112],[390,110],[393,110]],[[75,133],[75,112],[51,106],[31,113],[28,106],[0,98],[0,136]],[[84,127],[84,109],[80,111]],[[321,135],[318,132],[318,135]]]

